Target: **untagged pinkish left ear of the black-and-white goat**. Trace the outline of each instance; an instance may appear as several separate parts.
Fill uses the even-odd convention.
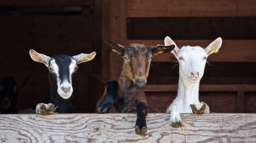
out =
[[[47,67],[49,67],[49,61],[51,59],[49,56],[46,56],[42,53],[38,53],[35,50],[29,50],[29,55],[32,58],[32,60],[34,60],[36,62],[43,63]]]

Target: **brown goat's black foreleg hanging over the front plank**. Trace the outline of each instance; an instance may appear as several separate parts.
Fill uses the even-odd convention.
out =
[[[144,102],[137,103],[137,120],[135,125],[135,133],[141,136],[147,135],[147,124],[146,124],[146,114],[148,106]]]

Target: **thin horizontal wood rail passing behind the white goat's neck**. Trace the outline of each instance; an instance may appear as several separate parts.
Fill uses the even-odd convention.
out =
[[[147,84],[145,92],[177,91],[177,84]],[[256,84],[201,84],[199,91],[256,91]]]

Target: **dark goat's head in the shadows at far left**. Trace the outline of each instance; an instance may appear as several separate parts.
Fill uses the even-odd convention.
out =
[[[11,104],[16,105],[19,88],[13,77],[5,77],[0,85],[2,108],[7,110]]]

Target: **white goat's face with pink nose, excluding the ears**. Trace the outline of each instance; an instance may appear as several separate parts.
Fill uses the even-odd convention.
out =
[[[198,82],[204,74],[207,53],[199,46],[183,46],[178,53],[180,76]]]

